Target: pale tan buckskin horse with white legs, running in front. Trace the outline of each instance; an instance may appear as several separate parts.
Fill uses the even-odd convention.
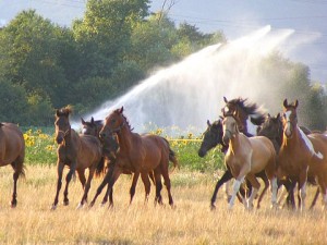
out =
[[[261,187],[255,174],[262,171],[266,172],[266,176],[269,180],[272,192],[271,206],[275,207],[277,201],[277,179],[275,175],[276,151],[274,145],[267,137],[247,137],[243,133],[240,133],[235,114],[235,112],[226,113],[222,120],[222,140],[229,145],[225,156],[225,163],[230,168],[235,179],[229,208],[233,207],[237,193],[245,177],[251,183],[253,191],[247,201],[244,201],[244,205],[249,209],[253,208],[253,199]],[[263,195],[264,192],[261,194],[259,200]]]

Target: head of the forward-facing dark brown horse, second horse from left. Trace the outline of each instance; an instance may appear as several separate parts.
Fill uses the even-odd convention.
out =
[[[55,131],[56,131],[56,142],[61,144],[66,136],[71,133],[71,124],[69,117],[72,113],[71,107],[65,107],[62,109],[56,110],[56,121],[55,121]]]

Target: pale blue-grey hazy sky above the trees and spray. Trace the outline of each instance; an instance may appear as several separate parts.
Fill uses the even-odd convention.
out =
[[[222,30],[229,40],[266,25],[293,29],[294,42],[289,45],[296,45],[296,52],[288,53],[288,58],[308,65],[312,81],[327,84],[327,0],[173,1],[169,17],[177,24],[187,22],[203,33]],[[160,10],[162,3],[154,0],[150,10]],[[70,26],[83,16],[85,4],[86,0],[0,0],[0,24],[10,22],[22,10],[35,9],[53,23]]]

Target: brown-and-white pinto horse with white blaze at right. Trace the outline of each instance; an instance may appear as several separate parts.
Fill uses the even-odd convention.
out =
[[[283,100],[283,138],[278,155],[277,175],[289,177],[298,183],[300,209],[305,209],[307,176],[314,176],[323,194],[324,207],[327,203],[327,135],[312,133],[305,135],[298,125],[296,109],[299,101],[289,103]]]

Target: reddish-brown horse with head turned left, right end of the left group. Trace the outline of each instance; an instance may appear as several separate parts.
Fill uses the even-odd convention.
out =
[[[155,203],[162,204],[160,194],[162,188],[162,175],[168,192],[169,205],[173,207],[168,168],[169,161],[172,161],[174,167],[178,167],[179,163],[174,152],[170,149],[168,140],[158,135],[140,135],[133,133],[128,119],[123,114],[123,107],[112,111],[106,118],[105,125],[100,131],[100,137],[106,138],[112,133],[118,135],[120,150],[117,152],[114,164],[112,164],[112,168],[107,172],[102,183],[98,187],[97,193],[90,203],[90,207],[95,204],[96,198],[101,193],[104,186],[109,183],[109,188],[112,188],[114,182],[125,170],[133,171],[134,173],[132,186],[130,188],[130,204],[135,194],[140,174],[146,189],[145,199],[148,198],[150,191],[148,173],[153,171],[156,182]]]

